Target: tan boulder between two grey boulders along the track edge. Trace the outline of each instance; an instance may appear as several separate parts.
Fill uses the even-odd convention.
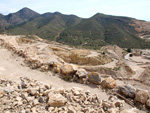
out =
[[[113,89],[114,87],[116,87],[116,81],[112,77],[108,77],[102,81],[101,86],[103,88]]]

